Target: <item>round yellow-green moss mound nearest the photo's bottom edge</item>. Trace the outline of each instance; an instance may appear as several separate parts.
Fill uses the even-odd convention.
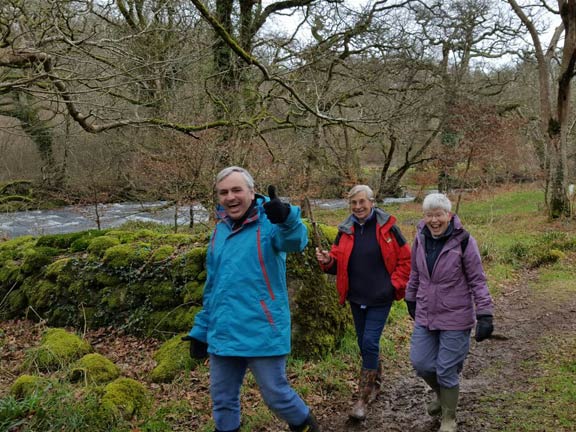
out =
[[[104,388],[101,408],[105,416],[130,419],[147,414],[150,407],[151,397],[138,381],[118,378]]]

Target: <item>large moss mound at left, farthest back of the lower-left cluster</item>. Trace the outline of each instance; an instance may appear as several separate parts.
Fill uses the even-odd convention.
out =
[[[55,370],[92,351],[88,342],[64,329],[50,328],[42,336],[40,346],[26,352],[24,367]]]

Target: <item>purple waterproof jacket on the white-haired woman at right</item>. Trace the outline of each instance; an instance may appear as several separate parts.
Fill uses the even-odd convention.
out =
[[[412,245],[412,269],[406,300],[416,301],[416,324],[429,330],[468,330],[475,315],[492,315],[493,303],[482,267],[476,240],[470,236],[462,253],[460,245],[467,232],[453,215],[454,231],[440,252],[432,274],[426,265],[425,224],[420,221]]]

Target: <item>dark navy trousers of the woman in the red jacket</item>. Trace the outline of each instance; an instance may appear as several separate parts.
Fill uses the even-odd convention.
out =
[[[358,347],[362,355],[362,369],[378,369],[380,337],[391,308],[392,304],[361,306],[356,303],[350,303]]]

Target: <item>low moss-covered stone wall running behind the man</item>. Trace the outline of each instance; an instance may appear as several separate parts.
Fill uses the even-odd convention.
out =
[[[2,242],[0,320],[113,326],[159,338],[188,331],[202,304],[207,241],[208,233],[108,230]],[[288,286],[294,354],[331,352],[349,317],[337,304],[333,281],[319,271],[312,245],[289,255]]]

